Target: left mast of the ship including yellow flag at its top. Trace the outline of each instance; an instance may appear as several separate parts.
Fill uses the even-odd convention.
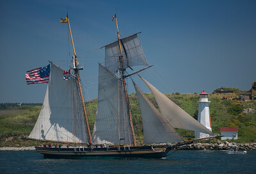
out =
[[[70,37],[71,37],[72,47],[73,47],[73,51],[74,51],[74,54],[73,54],[73,69],[74,69],[74,72],[76,74],[79,93],[80,93],[81,101],[82,101],[82,105],[83,105],[83,115],[84,115],[84,120],[85,120],[85,123],[86,123],[86,130],[87,130],[87,134],[88,134],[89,143],[92,145],[92,136],[91,136],[90,127],[89,127],[89,123],[88,123],[88,116],[87,116],[86,109],[85,109],[85,104],[84,104],[83,91],[82,91],[82,88],[81,88],[81,82],[80,82],[80,77],[79,77],[79,66],[78,66],[78,61],[77,61],[77,56],[76,56],[76,50],[75,50],[75,47],[74,47],[74,41],[73,41],[73,38],[72,38],[70,23],[69,23],[69,20],[68,20],[68,15],[67,15],[65,20],[61,19],[60,21],[62,23],[67,23],[68,22],[68,28],[69,28],[69,31],[70,31]]]

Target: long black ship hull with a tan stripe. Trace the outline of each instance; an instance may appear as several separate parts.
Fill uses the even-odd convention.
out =
[[[35,147],[36,151],[43,154],[45,158],[93,158],[93,157],[142,157],[162,158],[166,157],[170,148],[152,146],[131,146],[109,148],[45,148]]]

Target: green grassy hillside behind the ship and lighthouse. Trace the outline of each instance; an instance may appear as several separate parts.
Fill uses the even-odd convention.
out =
[[[156,100],[151,93],[146,94],[148,99],[155,104]],[[169,94],[166,95],[189,115],[197,119],[198,94]],[[238,127],[238,139],[236,142],[256,142],[256,100],[240,102],[221,100],[221,94],[209,95],[211,100],[212,132],[220,134],[220,127]],[[139,144],[143,141],[143,124],[140,113],[140,105],[135,94],[129,95],[131,104],[134,131]],[[23,141],[33,129],[36,118],[40,113],[40,106],[23,106],[12,110],[0,110],[0,146],[28,146],[38,144],[34,141]],[[93,131],[97,100],[86,102],[90,130]],[[193,139],[194,132],[177,129],[185,139]],[[39,143],[40,144],[40,143]]]

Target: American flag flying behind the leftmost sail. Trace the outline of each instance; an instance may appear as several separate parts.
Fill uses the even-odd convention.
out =
[[[50,76],[50,64],[45,67],[35,68],[26,72],[27,84],[48,83]]]

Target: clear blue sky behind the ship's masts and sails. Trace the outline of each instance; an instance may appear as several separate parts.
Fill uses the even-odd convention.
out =
[[[72,45],[79,56],[86,100],[97,97],[100,47],[139,36],[154,67],[141,73],[163,93],[211,93],[216,88],[249,90],[256,81],[256,1],[1,1],[0,102],[43,102],[46,84],[27,85],[27,70],[48,60],[68,69]],[[94,51],[95,50],[95,51]],[[91,52],[92,51],[92,52]],[[137,67],[136,70],[138,70]],[[145,86],[134,77],[145,92]],[[134,92],[128,83],[129,93]]]

